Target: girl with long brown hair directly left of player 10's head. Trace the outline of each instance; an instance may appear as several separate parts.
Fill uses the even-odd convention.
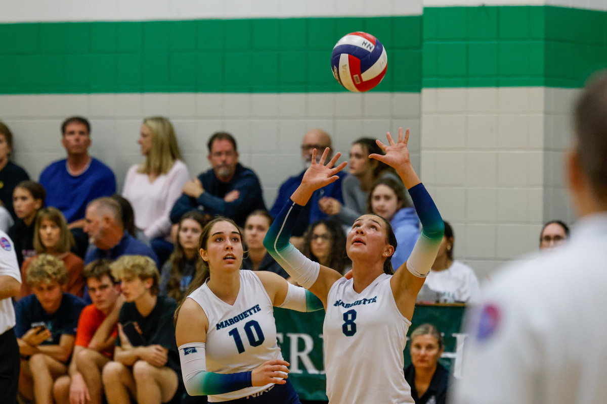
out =
[[[181,217],[175,248],[160,271],[160,296],[179,302],[195,274],[204,267],[198,239],[205,225],[205,215],[200,212],[191,211]]]

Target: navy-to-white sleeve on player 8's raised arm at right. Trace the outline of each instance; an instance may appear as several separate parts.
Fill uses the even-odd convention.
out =
[[[409,190],[422,231],[407,260],[407,270],[417,277],[426,277],[441,246],[445,224],[441,214],[421,182]]]

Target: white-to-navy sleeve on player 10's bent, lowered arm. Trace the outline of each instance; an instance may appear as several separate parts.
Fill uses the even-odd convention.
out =
[[[212,373],[206,371],[205,343],[191,342],[179,347],[181,376],[190,396],[224,394],[251,387],[251,372]]]

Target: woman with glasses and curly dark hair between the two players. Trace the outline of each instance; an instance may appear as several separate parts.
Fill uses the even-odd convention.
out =
[[[317,220],[304,233],[302,254],[342,275],[352,263],[345,252],[344,229],[337,220]]]

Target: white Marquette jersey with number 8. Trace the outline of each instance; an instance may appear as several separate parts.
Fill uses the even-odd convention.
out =
[[[330,404],[413,403],[402,351],[411,322],[402,316],[381,274],[362,293],[353,280],[333,283],[323,325]]]

